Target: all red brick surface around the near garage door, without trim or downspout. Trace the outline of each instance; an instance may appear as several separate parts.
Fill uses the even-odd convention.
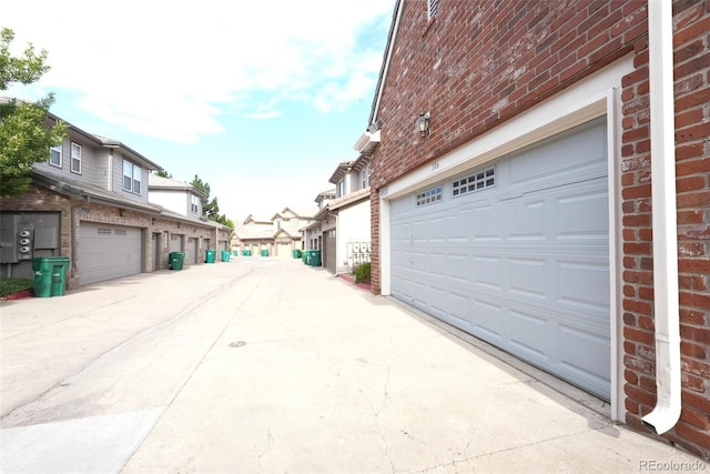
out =
[[[379,191],[626,54],[622,80],[622,317],[627,423],[655,406],[647,1],[403,2],[373,152],[373,292],[381,292]],[[676,108],[683,412],[665,435],[710,455],[710,2],[676,0]],[[432,133],[414,122],[432,113]],[[621,317],[621,316],[620,316]]]

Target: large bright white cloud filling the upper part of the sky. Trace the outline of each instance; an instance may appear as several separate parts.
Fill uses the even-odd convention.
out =
[[[72,93],[112,124],[191,143],[222,131],[221,110],[276,117],[275,104],[248,103],[260,91],[324,113],[362,99],[383,51],[359,51],[357,34],[390,3],[39,0],[3,9],[0,27],[18,47],[48,50],[45,90]]]

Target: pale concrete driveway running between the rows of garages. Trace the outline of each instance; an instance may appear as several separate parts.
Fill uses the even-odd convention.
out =
[[[710,471],[300,260],[235,258],[0,312],[3,473]]]

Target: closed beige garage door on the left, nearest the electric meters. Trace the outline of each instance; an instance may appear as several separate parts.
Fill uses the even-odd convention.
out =
[[[89,284],[141,273],[140,229],[82,222],[79,283]]]

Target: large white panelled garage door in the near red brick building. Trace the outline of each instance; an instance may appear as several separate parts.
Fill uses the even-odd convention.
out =
[[[390,203],[392,293],[606,400],[602,120]]]

